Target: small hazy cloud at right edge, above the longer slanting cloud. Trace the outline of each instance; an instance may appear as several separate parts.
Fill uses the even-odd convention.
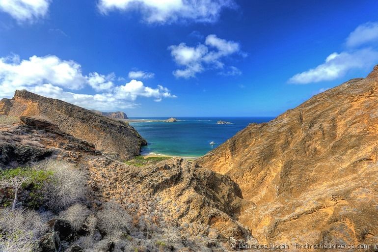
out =
[[[358,26],[349,34],[346,45],[357,47],[371,42],[378,41],[378,23],[366,23]]]

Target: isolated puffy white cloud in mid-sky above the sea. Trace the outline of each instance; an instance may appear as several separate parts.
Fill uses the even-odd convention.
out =
[[[205,45],[196,47],[187,46],[185,43],[168,47],[173,60],[184,69],[177,69],[173,75],[177,78],[192,78],[197,73],[203,72],[205,66],[223,68],[222,57],[233,54],[242,54],[240,45],[234,41],[227,41],[211,34],[206,37]]]

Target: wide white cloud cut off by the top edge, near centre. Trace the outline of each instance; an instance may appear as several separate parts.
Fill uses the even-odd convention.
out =
[[[223,8],[235,8],[234,0],[99,0],[99,10],[139,10],[148,23],[191,20],[215,22]]]

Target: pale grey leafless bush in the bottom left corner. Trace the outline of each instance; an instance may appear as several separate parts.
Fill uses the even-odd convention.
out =
[[[35,211],[0,210],[0,251],[35,251],[38,238],[47,230]]]

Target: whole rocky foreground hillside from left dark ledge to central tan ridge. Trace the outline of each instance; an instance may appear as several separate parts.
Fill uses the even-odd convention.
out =
[[[45,159],[46,164],[68,162],[85,174],[80,187],[86,190],[88,185],[89,190],[81,210],[84,212],[76,210],[71,216],[74,220],[88,210],[97,215],[110,202],[123,207],[131,222],[127,233],[112,237],[103,231],[103,226],[95,224],[100,232],[92,237],[85,231],[86,224],[81,223],[83,229],[75,231],[71,226],[77,223],[72,218],[59,219],[62,213],[56,213],[59,218],[46,215],[51,219],[47,223],[52,225],[38,238],[41,251],[55,251],[54,247],[64,247],[60,251],[65,252],[84,251],[87,246],[97,249],[100,243],[111,243],[123,249],[107,247],[96,251],[225,252],[229,237],[251,238],[248,229],[237,221],[251,202],[243,199],[239,186],[228,176],[177,158],[143,167],[127,165],[102,155],[93,144],[64,133],[59,125],[27,116],[20,120],[0,125],[0,170],[33,167]],[[20,205],[27,207],[30,198],[24,192]],[[7,200],[6,195],[0,195],[0,211]],[[118,222],[113,216],[116,214],[107,215],[110,224]],[[56,222],[64,227],[55,228]],[[55,229],[59,239],[54,239]],[[62,236],[63,231],[70,238]]]

